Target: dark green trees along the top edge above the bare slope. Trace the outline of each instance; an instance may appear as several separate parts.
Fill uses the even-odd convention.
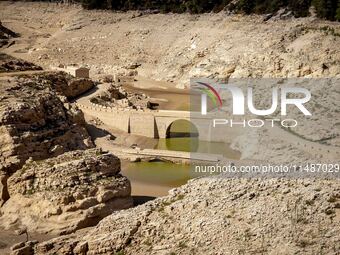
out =
[[[86,9],[159,10],[175,13],[219,12],[223,9],[237,13],[273,13],[290,9],[294,16],[309,15],[315,7],[318,17],[340,20],[340,0],[79,0]]]

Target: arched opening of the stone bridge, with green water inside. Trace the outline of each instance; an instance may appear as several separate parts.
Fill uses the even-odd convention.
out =
[[[166,138],[196,137],[199,133],[195,124],[189,120],[178,119],[173,121],[166,129]]]

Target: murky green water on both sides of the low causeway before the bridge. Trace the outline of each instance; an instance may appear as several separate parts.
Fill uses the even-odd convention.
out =
[[[240,153],[232,150],[228,144],[199,141],[190,137],[159,139],[155,149],[222,154],[231,159],[240,157]],[[133,195],[166,195],[171,188],[203,175],[195,173],[188,164],[161,161],[123,162],[122,169],[131,181]]]

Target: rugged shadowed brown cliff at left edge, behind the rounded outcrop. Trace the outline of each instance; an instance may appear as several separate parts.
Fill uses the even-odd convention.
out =
[[[6,179],[28,158],[41,160],[93,146],[83,113],[55,92],[58,84],[51,77],[0,80],[0,204],[8,199]]]

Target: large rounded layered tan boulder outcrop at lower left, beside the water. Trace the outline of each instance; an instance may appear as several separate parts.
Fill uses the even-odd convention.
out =
[[[7,181],[0,225],[53,234],[96,225],[132,206],[130,182],[119,172],[120,160],[97,149],[28,160]]]

